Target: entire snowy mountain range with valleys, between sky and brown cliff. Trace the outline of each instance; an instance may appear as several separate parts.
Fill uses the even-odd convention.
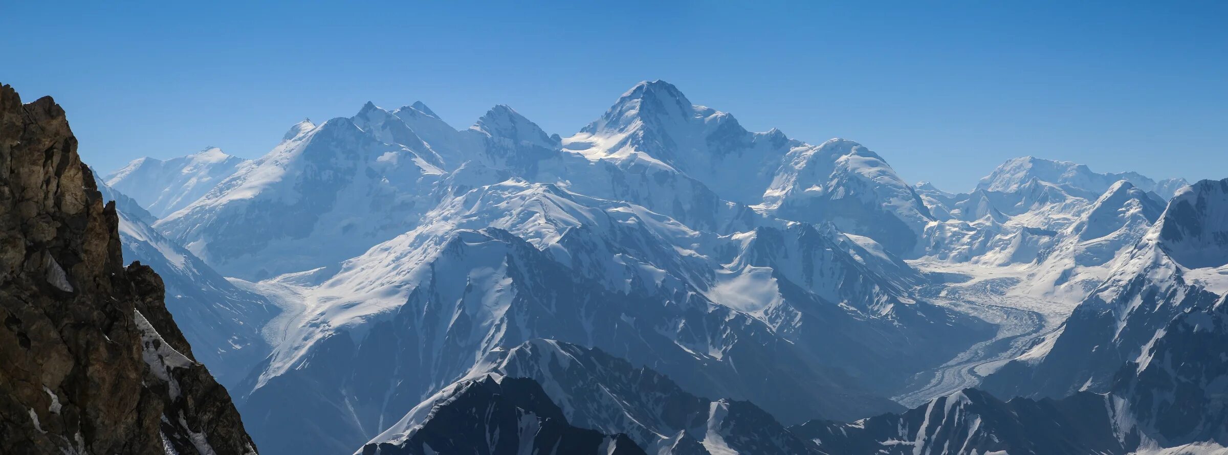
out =
[[[88,184],[263,454],[1228,453],[1228,179],[948,193],[664,81],[280,137]]]

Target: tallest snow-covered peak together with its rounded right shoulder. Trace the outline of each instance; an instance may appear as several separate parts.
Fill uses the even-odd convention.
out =
[[[693,104],[664,81],[636,85],[562,143],[620,168],[682,173],[723,200],[785,220],[835,223],[896,255],[915,253],[930,220],[912,189],[860,143],[834,139],[812,146],[775,129],[750,132],[728,113]],[[659,205],[643,205],[686,221]]]

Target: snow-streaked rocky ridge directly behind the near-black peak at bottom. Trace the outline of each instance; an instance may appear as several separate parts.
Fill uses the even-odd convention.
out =
[[[713,401],[691,395],[669,377],[651,368],[635,367],[598,348],[555,340],[529,340],[510,350],[490,352],[465,379],[446,390],[470,388],[470,383],[484,378],[502,378],[502,394],[540,390],[544,397],[539,400],[556,406],[569,424],[602,434],[626,434],[648,454],[823,454],[749,401]],[[507,384],[512,384],[508,381],[513,380],[532,381],[534,385],[508,388]],[[415,406],[392,429],[368,442],[365,450],[397,446],[411,437],[418,430],[415,428],[431,424],[436,428],[436,437],[464,438],[456,428],[469,427],[446,429],[441,423],[429,423],[432,417],[427,411],[443,403],[449,412],[460,412],[459,408],[467,407],[470,416],[486,416],[490,413],[484,411],[484,406],[489,403],[481,400],[447,401],[453,395],[451,391],[436,394]],[[488,424],[499,427],[492,419],[488,419]],[[432,446],[438,449],[436,444]]]

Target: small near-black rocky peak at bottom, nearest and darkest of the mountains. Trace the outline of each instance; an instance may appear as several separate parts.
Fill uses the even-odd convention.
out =
[[[532,379],[485,375],[449,386],[355,455],[643,454],[625,434],[567,423]]]

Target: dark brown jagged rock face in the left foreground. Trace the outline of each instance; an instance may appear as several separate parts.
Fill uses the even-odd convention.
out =
[[[0,454],[254,454],[76,147],[0,86]]]

